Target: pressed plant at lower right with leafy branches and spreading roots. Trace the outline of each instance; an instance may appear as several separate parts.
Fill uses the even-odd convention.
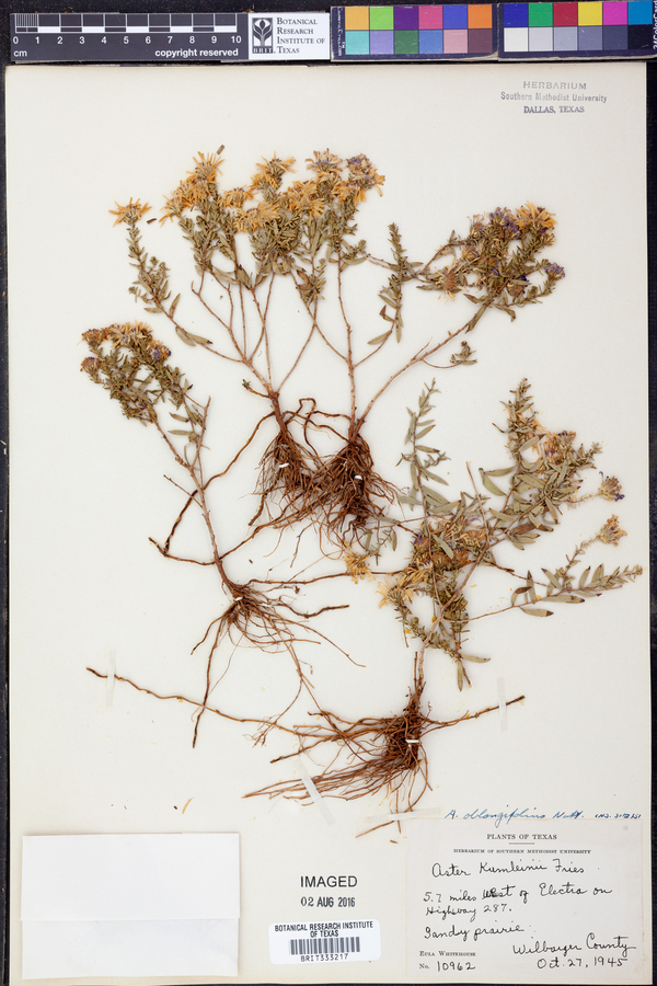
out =
[[[447,722],[434,719],[426,701],[423,702],[424,664],[431,650],[442,651],[451,657],[457,668],[458,687],[462,689],[464,683],[471,684],[468,665],[491,660],[462,650],[473,620],[511,609],[534,617],[550,617],[554,610],[535,605],[539,601],[537,588],[548,605],[581,604],[604,592],[621,588],[642,574],[638,565],[619,566],[607,574],[603,564],[592,573],[590,565],[581,572],[574,571],[587,549],[596,542],[615,547],[625,536],[615,515],[597,534],[576,546],[563,566],[554,572],[542,569],[540,578],[534,580],[530,571],[521,574],[498,564],[495,558],[498,546],[507,542],[523,550],[560,524],[565,507],[593,497],[612,502],[622,500],[621,484],[615,477],[602,477],[597,491],[578,495],[581,473],[593,469],[600,446],[577,447],[574,432],[554,433],[541,426],[534,415],[529,386],[522,381],[512,400],[506,403],[504,434],[514,465],[495,470],[480,469],[483,490],[477,488],[470,473],[472,492],[461,492],[458,500],[449,502],[433,488],[431,482],[440,481],[440,478],[429,471],[446,456],[417,442],[418,434],[426,436],[434,427],[427,423],[434,393],[434,385],[425,388],[417,411],[410,412],[406,444],[412,450],[402,456],[411,467],[412,488],[410,495],[400,498],[419,508],[419,527],[412,537],[408,563],[389,575],[378,588],[382,595],[381,606],[391,606],[402,623],[406,644],[414,641],[417,647],[407,702],[397,715],[356,721],[346,721],[322,710],[315,725],[297,730],[301,750],[324,745],[333,745],[336,749],[328,766],[312,778],[322,794],[351,799],[384,789],[393,795],[395,811],[411,810],[429,787],[423,737],[498,708],[465,713]],[[497,482],[502,485],[503,478],[507,478],[506,492],[497,485]],[[498,508],[493,507],[491,501],[498,500],[503,501],[497,503]],[[480,565],[499,569],[519,584],[506,606],[471,617],[469,597],[476,600],[477,594],[469,589],[469,583]],[[357,561],[350,560],[349,570],[356,578],[371,575],[366,554]],[[429,621],[423,621],[413,610],[414,601],[420,598],[431,603]],[[519,696],[507,704],[523,698]],[[309,792],[300,780],[278,782],[253,793],[309,800]]]

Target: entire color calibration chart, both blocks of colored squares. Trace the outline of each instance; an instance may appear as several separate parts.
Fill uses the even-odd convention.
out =
[[[657,0],[337,7],[335,61],[648,58]]]

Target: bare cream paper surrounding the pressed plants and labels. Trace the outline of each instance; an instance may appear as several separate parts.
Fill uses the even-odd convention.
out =
[[[587,93],[607,102],[586,103],[583,114],[533,115],[519,101],[502,100],[532,80],[586,82]],[[241,982],[407,982],[404,832],[354,838],[372,824],[365,816],[385,811],[383,802],[332,801],[336,824],[327,826],[314,807],[242,801],[245,791],[291,775],[269,765],[290,749],[281,738],[254,749],[244,729],[206,715],[193,750],[188,707],[118,683],[106,706],[104,683],[84,670],[104,669],[114,649],[118,674],[162,692],[203,693],[204,661],[188,655],[217,606],[204,570],[165,562],[148,542],[165,537],[181,505],[162,479],[172,474],[165,450],[78,371],[81,332],[142,317],[126,291],[125,236],[112,228],[107,209],[130,195],[159,208],[193,154],[221,144],[227,187],[245,183],[254,163],[274,152],[293,154],[298,170],[326,146],[344,156],[366,152],[387,176],[383,197],[370,196],[359,214],[360,234],[379,254],[391,221],[410,257],[419,260],[450,230],[464,230],[474,213],[527,199],[545,205],[558,219],[549,254],[566,278],[512,324],[497,313],[480,323],[470,336],[476,366],[437,374],[442,394],[433,438],[451,458],[443,474],[457,491],[466,481],[465,460],[475,470],[506,465],[491,422],[503,424],[499,401],[528,376],[542,420],[555,431],[577,431],[584,443],[602,440],[600,469],[618,475],[627,495],[618,505],[595,501],[573,512],[550,544],[527,552],[527,563],[535,571],[561,564],[615,511],[629,537],[591,560],[608,571],[647,566],[644,67],[21,66],[8,70],[7,95],[12,986],[22,982],[21,835],[180,830],[240,833]],[[145,227],[145,241],[171,262],[174,294],[184,293],[194,274],[184,267],[174,227]],[[369,295],[350,296],[361,339],[382,331],[381,285],[374,277]],[[192,300],[178,313],[211,337]],[[469,313],[430,295],[413,298],[407,326],[414,306],[413,344],[434,321],[460,325]],[[217,445],[217,459],[224,462],[238,446],[233,428],[241,433],[253,404],[244,403],[242,374],[209,366],[203,355],[176,342],[174,358],[198,392],[217,388],[214,413],[224,415],[226,443]],[[327,362],[311,359],[306,372],[304,386],[337,399]],[[401,484],[407,474],[394,466],[404,408],[431,376],[423,368],[391,388],[368,433],[383,473]],[[295,392],[303,392],[297,382]],[[250,516],[253,501],[237,497],[254,479],[245,471],[235,498],[217,504],[227,530],[233,518]],[[508,588],[496,582],[486,605],[508,598]],[[356,661],[365,658],[367,669],[325,645],[309,649],[318,691],[345,716],[387,714],[405,692],[412,652],[392,614],[378,609],[372,584],[332,592],[351,609],[319,626]],[[316,598],[309,595],[309,606]],[[550,620],[510,614],[481,621],[472,646],[493,661],[462,695],[452,669],[437,661],[427,685],[435,713],[447,719],[495,704],[499,679],[507,698],[527,700],[508,709],[505,730],[493,713],[435,736],[434,790],[422,807],[437,816],[527,806],[549,817],[580,810],[587,817],[618,811],[647,818],[647,614],[644,577],[586,606],[561,607]],[[238,656],[215,697],[242,714],[257,704],[264,714],[280,708],[293,691],[285,658]],[[647,867],[647,825],[645,838]],[[270,922],[322,918],[299,903],[301,874],[321,873],[357,876],[357,907],[327,916],[380,920],[381,960],[270,965]]]

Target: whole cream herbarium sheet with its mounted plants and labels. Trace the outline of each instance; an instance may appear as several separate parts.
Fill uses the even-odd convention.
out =
[[[644,68],[7,82],[12,984],[648,983]]]

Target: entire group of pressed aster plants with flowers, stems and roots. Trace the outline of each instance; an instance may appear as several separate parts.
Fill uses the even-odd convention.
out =
[[[392,223],[391,255],[379,257],[357,239],[358,207],[374,190],[380,193],[384,181],[365,154],[343,160],[328,150],[315,151],[307,161],[304,180],[291,179],[291,158],[269,158],[256,165],[247,184],[226,190],[219,179],[221,150],[198,154],[193,170],[165,199],[161,219],[176,222],[189,244],[196,272],[191,294],[210,326],[207,337],[184,324],[178,316],[181,294],[172,297],[172,272],[143,245],[141,223],[150,207],[130,199],[112,211],[127,228],[135,299],[169,322],[172,346],[177,337],[205,349],[208,359],[219,360],[222,377],[240,376],[262,411],[255,425],[218,462],[210,437],[214,394],[193,390],[183,371],[171,364],[169,345],[158,341],[147,324],[111,324],[83,335],[91,351],[83,370],[119,402],[126,416],[159,433],[183,478],[180,513],[166,538],[153,543],[164,558],[207,566],[219,578],[218,615],[196,645],[207,647],[205,693],[175,698],[196,709],[194,743],[205,711],[256,725],[261,740],[272,729],[289,733],[306,750],[337,743],[338,757],[347,763],[330,766],[314,778],[320,792],[349,799],[387,790],[397,809],[412,807],[428,786],[423,736],[491,711],[448,721],[433,718],[425,693],[426,662],[440,651],[454,664],[459,688],[471,684],[469,666],[488,660],[463,651],[470,624],[481,618],[470,612],[473,572],[480,565],[502,567],[497,546],[529,547],[560,523],[566,506],[590,498],[593,494],[579,495],[580,473],[593,467],[599,447],[577,448],[574,433],[543,429],[522,382],[507,404],[511,465],[482,468],[479,482],[472,478],[472,489],[450,501],[436,489],[436,483],[445,483],[437,471],[445,455],[426,444],[434,427],[428,414],[435,385],[425,388],[417,411],[411,412],[408,450],[402,455],[411,470],[407,493],[381,474],[368,428],[376,422],[382,395],[404,375],[426,366],[453,370],[475,362],[466,336],[488,311],[515,319],[520,309],[552,294],[564,277],[563,268],[544,256],[554,242],[554,218],[531,203],[475,215],[464,236],[452,233],[423,262],[407,259],[400,227]],[[368,337],[371,319],[355,318],[349,307],[364,270],[381,272],[377,308],[379,302],[382,307],[374,318],[383,322],[383,331],[372,337]],[[414,325],[413,351],[408,354],[400,346],[391,370],[390,362],[377,357],[383,349],[390,356],[406,340],[411,288],[447,299],[462,295],[472,306],[471,314],[424,336],[422,325]],[[292,342],[290,298],[303,320]],[[436,365],[443,349],[446,362]],[[325,398],[321,402],[312,389],[327,365],[335,381],[331,404]],[[240,471],[253,456],[255,488],[251,473]],[[239,531],[218,524],[209,505],[210,495],[220,495],[221,481],[235,473],[243,477],[243,492],[255,494],[253,516]],[[596,495],[619,498],[618,480],[603,479]],[[411,518],[404,517],[405,508]],[[189,511],[199,512],[207,539],[205,553],[196,557],[178,554],[174,548]],[[297,543],[301,536],[314,538],[316,555],[328,571],[276,581],[261,555],[262,567],[249,580],[232,574],[245,546],[258,557],[257,546],[267,531],[289,534]],[[638,569],[604,575],[599,567],[592,575],[590,570],[584,572],[574,586],[573,570],[592,541],[615,543],[621,535],[616,518],[610,518],[562,569],[545,571],[543,582],[504,566],[519,581],[506,608],[546,616],[549,610],[533,605],[537,586],[553,600],[578,603],[636,577]],[[382,605],[391,606],[400,619],[406,645],[416,649],[408,695],[396,715],[344,720],[324,708],[298,654],[299,643],[309,634],[327,640],[314,618],[342,606],[303,611],[284,589],[299,593],[311,585],[316,589],[323,580],[371,577],[372,563],[383,554],[392,557],[402,546],[408,547],[408,561],[388,573],[379,593]],[[415,611],[420,598],[430,600],[429,622]],[[296,690],[284,709],[268,719],[243,718],[209,704],[216,684],[212,661],[227,640],[235,646],[289,654]],[[365,673],[369,669],[366,666]],[[155,698],[174,698],[127,678],[119,680]],[[301,695],[311,702],[312,720],[289,725],[286,713]],[[254,793],[303,798],[307,792],[292,781]]]

